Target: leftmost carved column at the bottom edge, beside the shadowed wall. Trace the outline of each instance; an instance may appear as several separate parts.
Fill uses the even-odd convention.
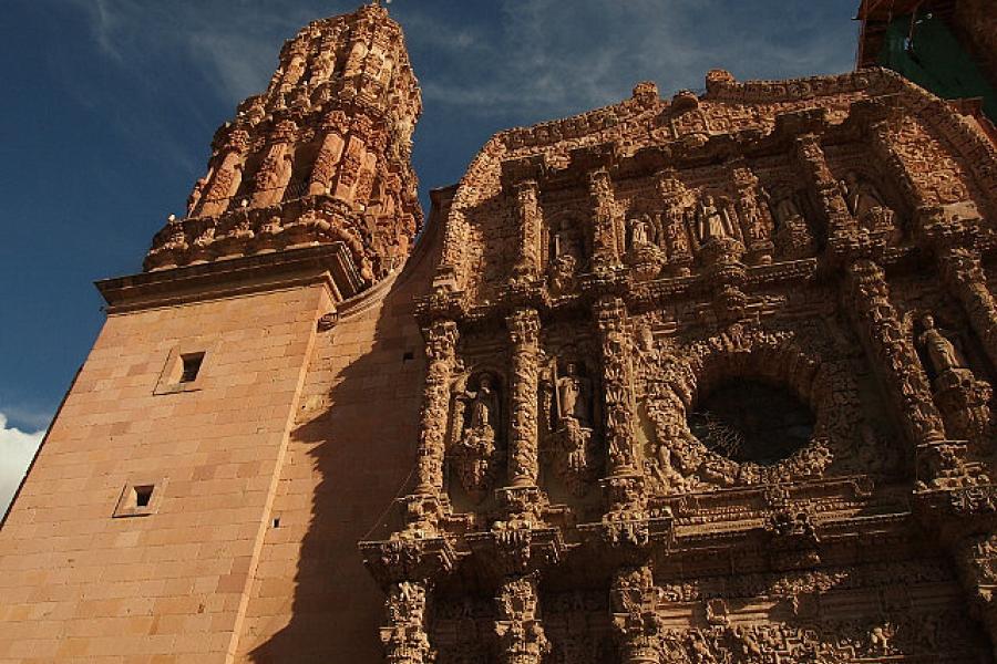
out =
[[[388,625],[381,627],[381,643],[389,664],[432,662],[432,649],[425,633],[425,584],[394,583],[388,593],[387,606]]]

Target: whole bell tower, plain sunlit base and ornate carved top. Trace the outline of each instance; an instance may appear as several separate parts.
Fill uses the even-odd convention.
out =
[[[259,589],[268,538],[311,518],[278,489],[320,334],[422,225],[420,112],[387,10],[310,23],[144,271],[97,283],[106,323],[2,523],[0,661],[256,661],[255,616],[291,606]]]

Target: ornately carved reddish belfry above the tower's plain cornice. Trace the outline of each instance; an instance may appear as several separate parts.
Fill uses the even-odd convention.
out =
[[[315,21],[215,134],[186,217],[156,235],[145,268],[343,242],[360,283],[382,278],[422,224],[410,164],[421,111],[384,9]]]

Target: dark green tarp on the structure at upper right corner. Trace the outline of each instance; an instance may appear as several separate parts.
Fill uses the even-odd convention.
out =
[[[915,18],[913,48],[907,48],[911,17],[894,19],[886,30],[878,62],[942,98],[983,97],[984,112],[997,123],[997,91],[968,50],[932,14]]]

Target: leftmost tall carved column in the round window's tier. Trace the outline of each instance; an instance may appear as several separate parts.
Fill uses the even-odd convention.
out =
[[[458,326],[436,320],[423,330],[429,366],[422,395],[422,418],[417,467],[417,494],[438,494],[443,489],[443,454],[450,409],[450,380],[456,362]]]

